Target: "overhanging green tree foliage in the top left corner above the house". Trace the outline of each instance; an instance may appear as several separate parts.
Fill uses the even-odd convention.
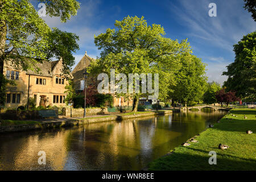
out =
[[[38,1],[41,2],[46,5],[46,13],[49,16],[59,16],[62,22],[76,15],[77,9],[80,8],[79,2],[75,0]],[[68,68],[74,64],[72,51],[78,48],[76,40],[78,37],[75,34],[61,32],[56,28],[51,30],[29,0],[1,0],[0,95],[4,92],[2,83],[6,82],[3,76],[5,60],[24,71],[39,71],[36,63],[42,63],[52,57],[63,57],[63,71],[67,73]]]

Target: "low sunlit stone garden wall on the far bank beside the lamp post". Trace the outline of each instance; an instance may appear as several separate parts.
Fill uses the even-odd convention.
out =
[[[92,107],[86,108],[86,115],[100,115],[107,114],[108,109],[101,109],[100,107]],[[84,108],[80,109],[71,109],[70,107],[65,107],[63,109],[63,115],[66,117],[83,117],[84,116]]]

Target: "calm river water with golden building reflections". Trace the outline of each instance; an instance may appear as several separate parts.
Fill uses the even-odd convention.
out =
[[[0,134],[0,170],[140,170],[225,114],[205,108],[70,129]],[[39,165],[39,151],[45,152],[46,164]]]

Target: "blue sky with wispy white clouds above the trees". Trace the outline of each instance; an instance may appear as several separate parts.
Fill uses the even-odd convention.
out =
[[[256,30],[250,13],[243,9],[243,0],[174,0],[174,1],[103,1],[84,0],[77,16],[61,23],[58,17],[43,17],[50,27],[75,32],[80,36],[80,50],[74,56],[76,64],[85,51],[91,57],[100,56],[94,45],[94,35],[114,28],[115,20],[125,16],[144,16],[148,24],[160,24],[166,37],[188,38],[193,54],[207,64],[208,81],[222,84],[221,73],[234,61],[233,44],[243,35]],[[210,17],[209,3],[217,5],[217,16]]]

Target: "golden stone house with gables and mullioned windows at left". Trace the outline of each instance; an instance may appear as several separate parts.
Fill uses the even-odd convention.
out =
[[[36,106],[65,106],[64,91],[68,81],[61,74],[61,59],[36,64],[40,68],[39,72],[15,69],[8,61],[4,64],[3,74],[16,82],[15,86],[7,85],[6,108],[25,106],[28,97],[34,98]]]

